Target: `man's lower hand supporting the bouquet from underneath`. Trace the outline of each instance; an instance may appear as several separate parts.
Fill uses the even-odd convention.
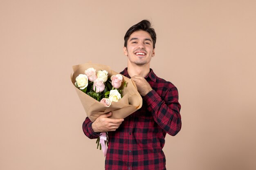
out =
[[[108,132],[115,131],[119,128],[124,119],[110,119],[112,112],[100,115],[93,123],[92,130],[94,132]]]

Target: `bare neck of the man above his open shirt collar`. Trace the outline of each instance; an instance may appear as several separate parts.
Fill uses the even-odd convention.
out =
[[[146,75],[148,75],[150,71],[150,65],[149,64],[137,65],[137,64],[128,63],[127,71],[130,77],[133,77],[135,75],[146,77]]]

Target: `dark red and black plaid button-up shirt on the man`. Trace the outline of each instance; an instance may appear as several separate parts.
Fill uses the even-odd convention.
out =
[[[130,78],[127,68],[121,74]],[[181,128],[178,91],[152,69],[145,79],[153,90],[143,97],[142,107],[126,117],[116,131],[108,132],[106,170],[166,170],[164,138]],[[99,137],[88,117],[83,132],[90,139]]]

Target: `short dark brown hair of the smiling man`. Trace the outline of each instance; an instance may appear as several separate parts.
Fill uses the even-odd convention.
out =
[[[127,47],[127,41],[130,38],[130,35],[135,31],[146,31],[150,34],[152,40],[153,40],[153,49],[155,49],[155,42],[157,40],[157,35],[155,33],[155,30],[151,27],[151,23],[148,20],[142,20],[141,22],[131,26],[126,34],[124,35],[124,46]]]

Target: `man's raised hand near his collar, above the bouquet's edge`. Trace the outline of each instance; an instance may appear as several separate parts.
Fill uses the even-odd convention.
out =
[[[153,90],[144,77],[135,75],[131,77],[131,79],[135,82],[141,96],[145,96],[148,92]]]

